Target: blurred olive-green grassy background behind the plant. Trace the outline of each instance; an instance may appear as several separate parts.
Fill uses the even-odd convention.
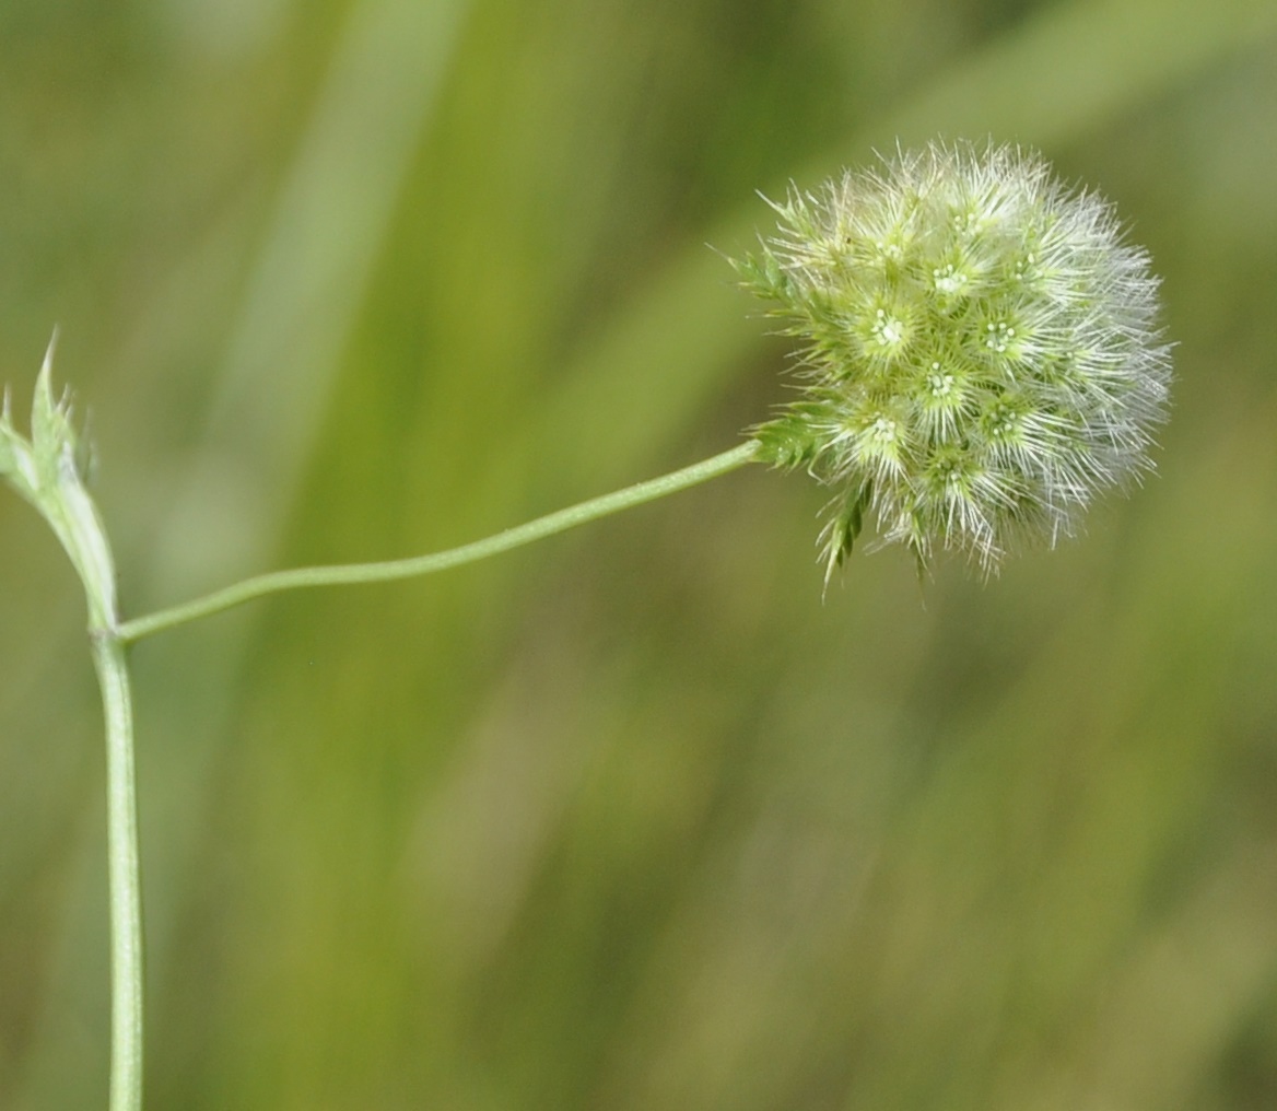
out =
[[[5,0],[0,379],[126,614],[411,554],[785,396],[722,257],[873,148],[1115,200],[1160,474],[982,586],[751,467],[135,651],[153,1108],[1277,1106],[1277,4]],[[105,1106],[83,603],[0,497],[0,1107]]]

